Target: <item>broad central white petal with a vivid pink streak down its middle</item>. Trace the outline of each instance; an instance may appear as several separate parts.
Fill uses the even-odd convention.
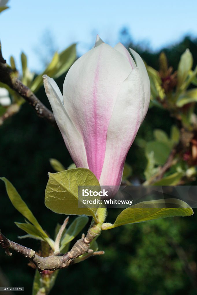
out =
[[[83,137],[89,169],[99,179],[112,110],[131,67],[117,50],[103,43],[80,57],[68,71],[64,106]]]

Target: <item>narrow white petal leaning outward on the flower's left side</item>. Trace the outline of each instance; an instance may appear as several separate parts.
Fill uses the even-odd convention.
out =
[[[83,139],[62,104],[62,94],[52,78],[43,75],[44,88],[59,130],[77,167],[88,168]]]

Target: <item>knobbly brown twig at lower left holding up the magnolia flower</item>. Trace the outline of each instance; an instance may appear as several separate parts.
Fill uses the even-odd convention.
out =
[[[39,272],[42,272],[43,270],[56,270],[59,268],[67,268],[70,264],[74,264],[77,262],[80,262],[80,260],[76,260],[76,258],[79,258],[81,255],[88,253],[88,257],[92,255],[101,255],[104,254],[103,251],[99,252],[93,252],[93,250],[90,249],[90,243],[92,240],[98,236],[101,232],[101,224],[100,223],[93,223],[92,226],[89,228],[87,235],[82,235],[82,238],[78,240],[72,249],[61,256],[59,255],[51,255],[48,257],[41,257],[35,254],[35,251],[26,248],[20,244],[17,244],[15,242],[12,242],[8,240],[0,230],[0,245],[5,250],[5,253],[9,256],[12,255],[10,250],[13,250],[17,253],[20,253],[24,257],[28,258],[31,262],[35,264],[35,266],[38,268]],[[86,257],[86,258],[88,258]],[[81,259],[81,261],[84,259]]]

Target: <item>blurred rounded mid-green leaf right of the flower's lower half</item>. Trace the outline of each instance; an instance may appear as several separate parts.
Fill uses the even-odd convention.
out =
[[[171,148],[164,142],[150,141],[146,144],[145,150],[147,155],[153,151],[155,164],[163,165],[169,156]]]

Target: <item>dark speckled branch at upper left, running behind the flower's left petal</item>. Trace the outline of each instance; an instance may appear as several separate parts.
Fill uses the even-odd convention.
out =
[[[48,122],[56,126],[53,113],[43,105],[43,103],[33,94],[33,92],[15,76],[14,71],[4,60],[1,53],[0,44],[0,81],[7,84],[11,89],[22,96],[35,109],[39,117],[45,118]]]

